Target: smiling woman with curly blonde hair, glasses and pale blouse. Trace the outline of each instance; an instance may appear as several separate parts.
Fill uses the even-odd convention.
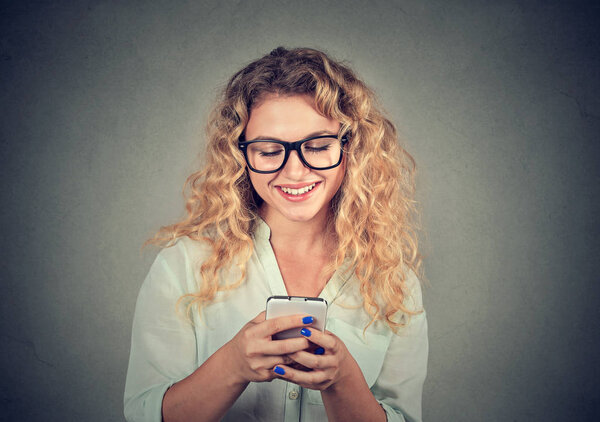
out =
[[[167,247],[136,305],[127,420],[420,420],[414,163],[371,91],[280,47],[231,78],[207,134],[187,217],[150,241]],[[265,320],[272,295],[326,299],[327,330]]]

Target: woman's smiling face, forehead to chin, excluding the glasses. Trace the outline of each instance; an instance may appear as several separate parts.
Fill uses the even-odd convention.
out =
[[[294,142],[310,136],[337,135],[340,123],[317,112],[307,95],[267,96],[250,111],[246,140],[277,139]],[[277,173],[260,174],[248,170],[256,192],[264,200],[263,216],[283,217],[294,222],[325,219],[331,199],[338,191],[346,170],[342,163],[329,170],[312,170],[302,164],[296,151]],[[312,189],[306,193],[290,191]],[[287,193],[285,192],[287,191]],[[302,192],[302,191],[300,191]]]

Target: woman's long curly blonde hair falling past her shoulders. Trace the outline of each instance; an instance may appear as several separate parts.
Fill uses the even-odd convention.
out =
[[[144,246],[169,247],[182,236],[210,245],[212,253],[199,268],[199,291],[181,298],[190,299],[188,312],[192,305],[201,308],[218,292],[244,282],[262,200],[237,144],[252,106],[268,94],[310,95],[321,114],[341,123],[340,136],[348,135],[346,174],[331,204],[338,244],[329,268],[348,260],[372,318],[369,325],[383,320],[396,330],[404,324],[398,316],[416,313],[405,306],[408,272],[420,274],[421,267],[415,163],[399,145],[396,128],[373,92],[347,66],[321,51],[279,47],[233,75],[209,117],[206,165],[185,183],[187,216],[162,227]],[[240,277],[223,283],[220,273],[233,265]]]

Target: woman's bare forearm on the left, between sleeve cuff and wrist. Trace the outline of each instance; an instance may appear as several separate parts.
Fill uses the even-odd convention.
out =
[[[218,421],[247,387],[227,371],[226,344],[164,395],[164,422]]]

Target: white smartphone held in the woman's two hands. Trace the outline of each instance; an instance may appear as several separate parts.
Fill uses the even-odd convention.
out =
[[[325,330],[327,320],[327,301],[320,297],[271,296],[267,299],[266,319],[286,315],[307,314],[314,318],[311,328]],[[273,340],[301,337],[300,328],[284,330],[273,335]]]

